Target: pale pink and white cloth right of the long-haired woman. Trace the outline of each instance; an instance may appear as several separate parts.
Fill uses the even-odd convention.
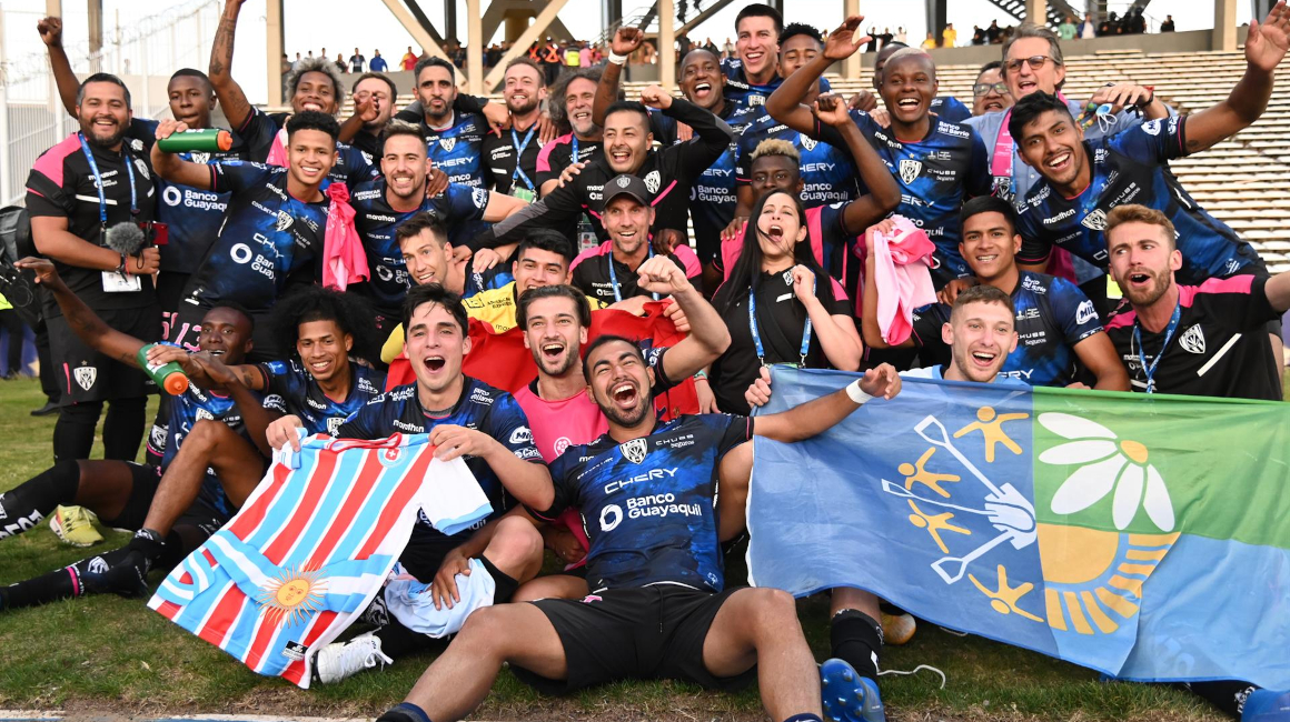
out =
[[[873,233],[873,282],[878,286],[878,329],[889,346],[913,333],[913,309],[935,303],[931,253],[937,246],[908,218],[893,215],[895,233]]]

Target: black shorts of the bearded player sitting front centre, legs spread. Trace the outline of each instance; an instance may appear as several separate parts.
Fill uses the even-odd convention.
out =
[[[529,602],[560,634],[566,679],[548,679],[511,665],[526,685],[566,694],[617,679],[679,679],[710,690],[739,690],[757,678],[753,665],[734,677],[713,677],[703,665],[703,641],[735,587],[720,593],[655,584],[606,589],[583,600]]]

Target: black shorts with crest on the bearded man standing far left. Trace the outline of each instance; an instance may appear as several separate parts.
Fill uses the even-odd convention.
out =
[[[97,313],[114,330],[144,343],[161,338],[161,311],[156,306]],[[156,392],[156,384],[138,366],[123,364],[81,343],[62,315],[49,317],[46,325],[49,358],[64,395],[63,404],[139,398]]]

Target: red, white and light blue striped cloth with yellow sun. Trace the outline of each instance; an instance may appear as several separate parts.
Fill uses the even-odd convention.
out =
[[[148,606],[259,674],[308,688],[311,650],[334,641],[379,592],[417,523],[423,482],[444,462],[424,434],[319,434],[292,456],[275,460],[237,516],[170,571]]]

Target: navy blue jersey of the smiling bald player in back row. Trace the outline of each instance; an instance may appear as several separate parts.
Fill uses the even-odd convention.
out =
[[[980,137],[964,125],[933,119],[925,138],[900,142],[890,129],[873,122],[869,113],[851,111],[851,117],[900,184],[895,213],[922,228],[937,245],[933,280],[942,286],[970,276],[971,269],[958,254],[958,209],[965,199],[989,193],[989,168]],[[814,135],[846,147],[841,133],[818,120]]]

